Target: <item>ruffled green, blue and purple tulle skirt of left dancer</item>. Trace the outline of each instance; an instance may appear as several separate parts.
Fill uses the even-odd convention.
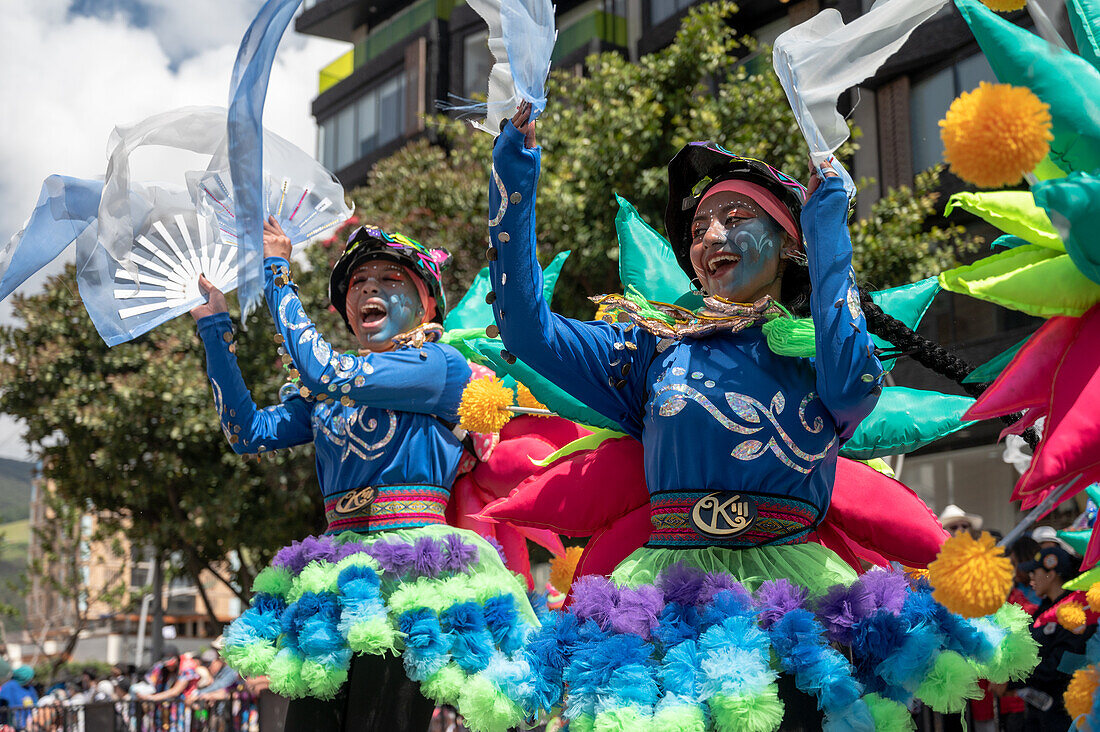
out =
[[[503,732],[531,707],[526,589],[485,539],[442,524],[310,537],[256,577],[222,655],[290,699],[333,698],[353,654],[400,655],[426,697]]]

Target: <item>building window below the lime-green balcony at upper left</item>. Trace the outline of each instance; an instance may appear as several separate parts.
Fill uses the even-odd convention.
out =
[[[340,171],[405,133],[405,73],[382,81],[321,122],[321,164]]]

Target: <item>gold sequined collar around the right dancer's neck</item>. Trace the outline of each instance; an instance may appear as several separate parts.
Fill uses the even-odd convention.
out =
[[[783,315],[782,308],[765,295],[756,303],[730,303],[718,297],[703,298],[704,307],[696,312],[669,305],[649,303],[649,308],[623,295],[600,295],[590,298],[602,309],[622,313],[635,325],[658,338],[705,338],[716,332],[739,332],[752,326],[762,325],[774,316]],[[656,313],[654,313],[656,312]],[[654,317],[657,314],[671,317],[672,323]]]

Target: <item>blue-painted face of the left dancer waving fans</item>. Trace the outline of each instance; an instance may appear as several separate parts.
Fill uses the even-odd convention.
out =
[[[424,306],[411,275],[388,262],[356,267],[349,287],[346,313],[361,346],[372,351],[393,347],[393,338],[420,325]]]

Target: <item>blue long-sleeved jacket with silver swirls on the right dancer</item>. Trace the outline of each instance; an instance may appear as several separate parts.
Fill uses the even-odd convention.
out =
[[[802,214],[817,354],[799,359],[770,351],[759,327],[671,340],[551,313],[535,256],[539,165],[540,150],[506,124],[493,151],[490,272],[508,351],[639,438],[650,493],[752,491],[810,501],[824,515],[839,444],[875,407],[882,378],[839,178]]]

